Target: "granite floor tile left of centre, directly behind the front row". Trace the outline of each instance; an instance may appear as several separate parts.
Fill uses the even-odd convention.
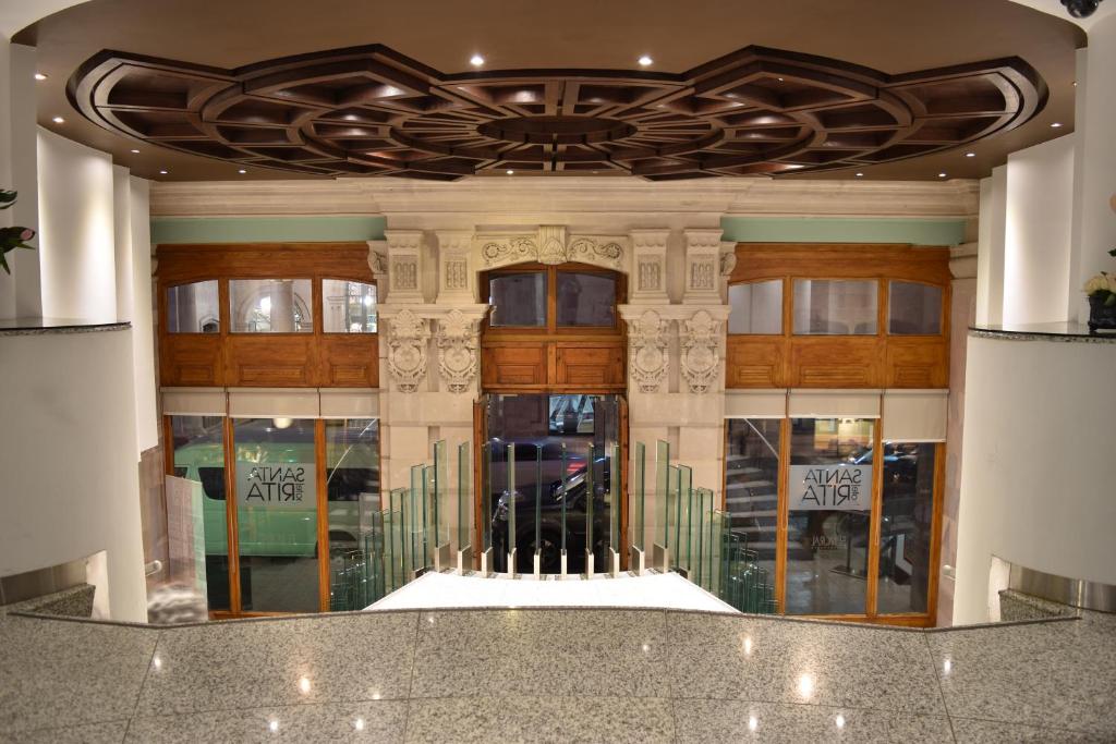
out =
[[[137,714],[405,698],[416,621],[384,612],[169,630]]]

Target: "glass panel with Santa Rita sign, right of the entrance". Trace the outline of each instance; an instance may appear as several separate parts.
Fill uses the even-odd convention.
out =
[[[788,615],[863,615],[873,489],[873,419],[790,419]]]

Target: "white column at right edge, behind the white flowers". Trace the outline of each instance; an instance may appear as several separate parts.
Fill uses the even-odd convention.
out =
[[[1083,80],[1080,75],[1085,73]],[[1077,95],[1084,95],[1076,123],[1077,163],[1080,175],[1075,189],[1080,199],[1080,225],[1075,230],[1080,242],[1077,254],[1077,286],[1070,291],[1078,297],[1078,320],[1088,319],[1088,306],[1081,292],[1089,277],[1099,272],[1116,271],[1116,259],[1108,251],[1116,248],[1116,95],[1113,95],[1113,75],[1116,74],[1116,16],[1098,20],[1089,29],[1085,69],[1079,69]],[[1083,90],[1084,89],[1084,90]],[[1084,112],[1083,112],[1084,109]],[[1084,113],[1084,116],[1081,114]],[[1071,271],[1071,274],[1075,273]]]

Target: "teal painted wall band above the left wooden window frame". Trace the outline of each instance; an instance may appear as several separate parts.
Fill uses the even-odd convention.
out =
[[[151,242],[326,243],[383,240],[383,216],[319,218],[153,218]]]

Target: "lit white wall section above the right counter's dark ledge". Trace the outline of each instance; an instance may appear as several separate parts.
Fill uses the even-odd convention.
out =
[[[1003,322],[1067,320],[1074,210],[1067,135],[1008,156]]]

